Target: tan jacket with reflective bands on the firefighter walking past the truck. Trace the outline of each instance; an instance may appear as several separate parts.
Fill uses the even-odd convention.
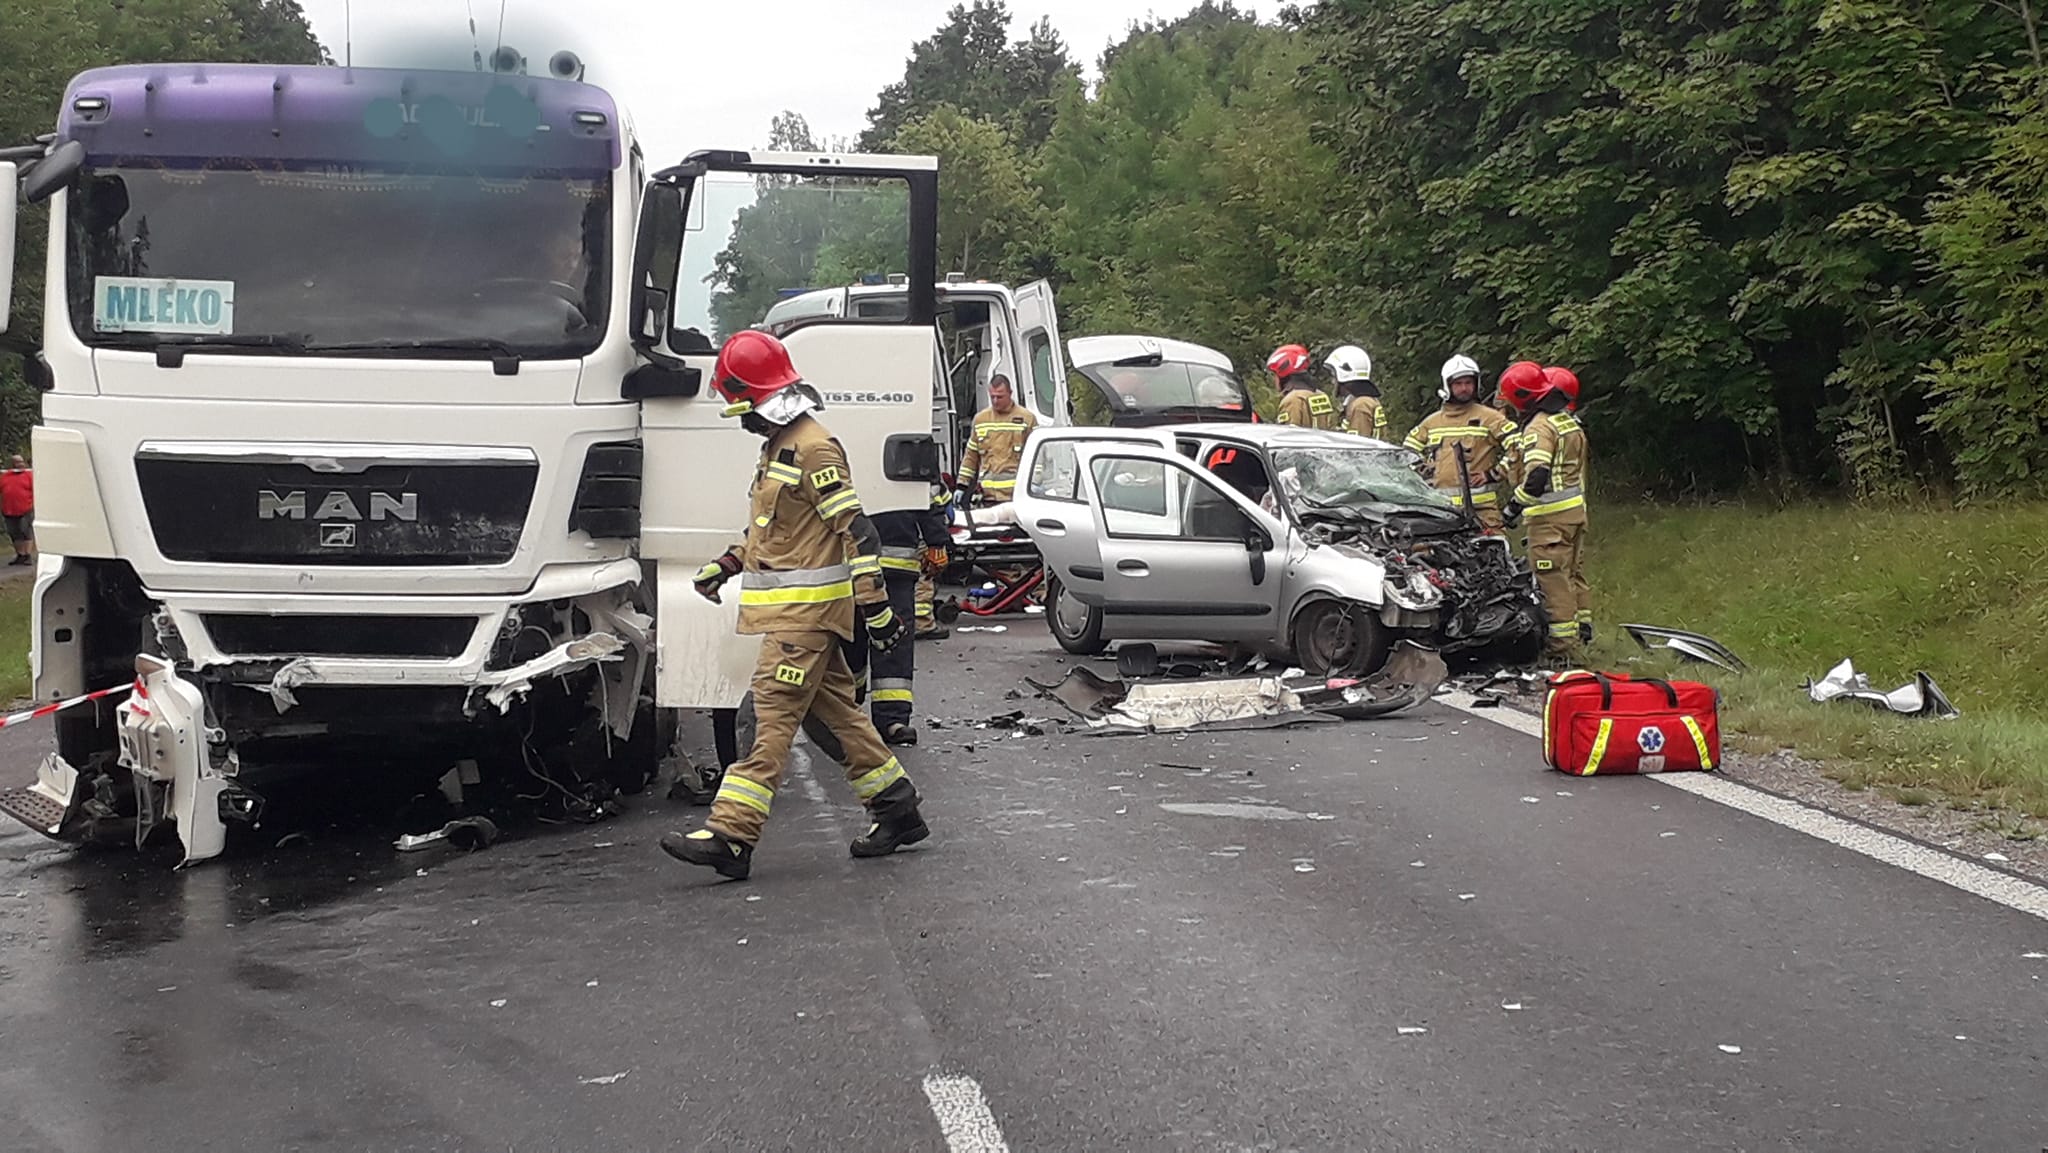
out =
[[[860,510],[846,449],[805,414],[762,446],[739,559],[739,633],[854,639],[862,612],[889,606],[881,539]]]

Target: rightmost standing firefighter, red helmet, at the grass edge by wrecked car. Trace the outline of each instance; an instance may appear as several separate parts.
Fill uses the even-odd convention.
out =
[[[1507,518],[1528,520],[1536,586],[1550,616],[1544,655],[1571,659],[1581,639],[1581,610],[1591,631],[1585,590],[1585,430],[1565,412],[1571,397],[1544,379],[1542,365],[1522,360],[1501,373],[1501,397],[1528,416],[1522,434],[1522,481]]]

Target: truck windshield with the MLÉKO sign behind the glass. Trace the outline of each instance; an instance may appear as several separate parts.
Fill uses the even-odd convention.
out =
[[[604,338],[608,221],[608,174],[88,168],[72,328],[102,348],[571,358]]]

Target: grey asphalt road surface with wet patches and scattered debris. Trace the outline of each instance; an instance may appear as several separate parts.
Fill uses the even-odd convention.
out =
[[[0,831],[0,1147],[995,1147],[932,1075],[1010,1149],[2048,1147],[2036,917],[1436,704],[991,739],[1038,623],[922,655],[879,862],[821,758],[735,885],[651,797],[184,872]]]

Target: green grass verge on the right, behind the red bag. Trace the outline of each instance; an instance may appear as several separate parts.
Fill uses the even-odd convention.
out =
[[[1640,655],[1622,623],[1706,633],[1753,672],[1649,666],[1716,684],[1737,748],[1792,748],[1905,803],[2048,819],[2048,504],[1616,506],[1589,545],[1595,664]],[[1806,700],[1843,657],[1880,690],[1927,670],[1962,719]]]

